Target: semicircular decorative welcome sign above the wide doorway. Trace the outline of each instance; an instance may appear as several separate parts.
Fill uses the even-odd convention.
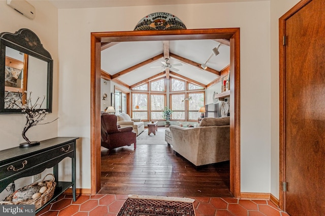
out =
[[[173,14],[156,12],[142,18],[134,30],[186,29],[184,23]]]

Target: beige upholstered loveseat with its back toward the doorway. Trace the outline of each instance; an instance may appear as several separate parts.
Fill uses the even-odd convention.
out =
[[[196,167],[230,160],[230,117],[203,118],[198,127],[169,128],[173,150]]]

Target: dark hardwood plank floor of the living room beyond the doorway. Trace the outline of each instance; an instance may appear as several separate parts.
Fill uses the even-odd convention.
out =
[[[229,162],[196,170],[168,145],[121,147],[102,151],[100,194],[233,197]]]

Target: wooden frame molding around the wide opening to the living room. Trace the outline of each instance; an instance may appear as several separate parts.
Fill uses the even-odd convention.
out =
[[[91,194],[101,189],[101,44],[126,41],[228,39],[230,41],[230,192],[240,197],[240,29],[92,32],[90,48]]]

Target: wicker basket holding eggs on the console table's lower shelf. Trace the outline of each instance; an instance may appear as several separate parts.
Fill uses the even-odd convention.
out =
[[[53,179],[51,180],[45,180],[46,176],[51,175]],[[54,190],[55,190],[55,186],[56,186],[56,182],[55,182],[55,177],[53,174],[47,174],[45,175],[45,177],[43,178],[42,182],[35,182],[31,185],[27,185],[23,188],[18,189],[17,191],[20,190],[26,190],[27,188],[30,187],[34,187],[39,185],[40,183],[43,183],[46,187],[47,190],[39,197],[37,197],[36,199],[27,199],[27,200],[23,200],[23,201],[16,201],[13,202],[13,196],[14,193],[10,194],[8,197],[6,197],[3,201],[0,201],[0,204],[8,204],[8,205],[19,205],[19,204],[35,204],[35,210],[41,208],[45,203],[47,203],[54,195]]]

